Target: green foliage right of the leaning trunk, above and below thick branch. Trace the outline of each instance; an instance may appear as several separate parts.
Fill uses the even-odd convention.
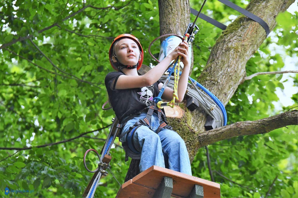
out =
[[[296,58],[297,27],[297,12],[281,13],[274,31],[248,61],[247,76],[280,71],[286,56]],[[284,104],[277,96],[277,90],[284,90],[287,81],[297,87],[295,79],[297,75],[284,78],[281,74],[245,81],[226,106],[228,124],[266,118],[297,106],[297,94],[292,96],[292,104]],[[222,197],[297,197],[297,131],[297,126],[289,126],[209,145],[211,169],[215,181],[221,183]],[[193,172],[211,180],[206,161],[206,151],[201,148],[192,163]]]

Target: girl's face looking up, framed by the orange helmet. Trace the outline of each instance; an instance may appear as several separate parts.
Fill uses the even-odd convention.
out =
[[[140,59],[139,46],[132,39],[121,39],[114,47],[114,55],[123,65],[136,65]],[[112,57],[112,60],[117,62],[115,56]]]

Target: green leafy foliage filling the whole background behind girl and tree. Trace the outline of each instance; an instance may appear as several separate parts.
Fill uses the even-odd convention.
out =
[[[191,1],[191,7],[199,10],[200,6]],[[218,1],[210,1],[203,12],[227,24],[231,15],[239,15],[227,10]],[[131,33],[147,51],[159,36],[158,2],[4,0],[0,11],[0,43],[2,47],[10,44],[0,50],[0,189],[34,190],[30,197],[80,197],[92,177],[83,165],[84,152],[89,148],[100,151],[114,116],[112,110],[101,109],[107,100],[104,78],[112,70],[107,56],[110,43],[118,34]],[[288,56],[297,54],[297,43],[292,42],[297,39],[293,33],[297,12],[280,14],[277,21],[272,37],[249,60],[248,75],[283,67],[284,54],[272,54],[272,43],[283,46]],[[203,20],[199,28],[193,47],[194,78],[221,34]],[[159,52],[158,46],[152,48],[153,54]],[[148,53],[145,60],[145,64],[154,64]],[[226,107],[229,123],[279,113],[272,102],[279,101],[274,90],[284,89],[281,78],[263,75],[240,85]],[[297,80],[293,86],[297,87]],[[297,101],[297,96],[292,98]],[[297,104],[281,108],[294,106]],[[212,170],[216,170],[222,196],[265,197],[274,184],[270,195],[297,197],[296,132],[297,127],[289,127],[210,145]],[[210,180],[202,151],[193,161],[193,174]],[[100,180],[96,197],[115,197],[124,182],[129,163],[124,162],[117,140],[111,153],[111,171]],[[89,169],[94,170],[97,163],[97,156],[88,154]]]

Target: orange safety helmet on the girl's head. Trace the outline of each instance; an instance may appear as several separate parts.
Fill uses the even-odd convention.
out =
[[[129,38],[129,39],[132,39],[136,42],[136,44],[138,44],[139,46],[139,49],[141,51],[140,53],[140,60],[138,62],[138,64],[136,65],[136,69],[140,69],[140,67],[142,66],[142,63],[143,63],[143,58],[144,58],[144,51],[143,51],[143,48],[142,48],[142,45],[139,41],[139,39],[137,39],[134,35],[132,34],[120,34],[119,36],[117,36],[116,38],[114,38],[112,44],[111,44],[111,47],[109,49],[109,59],[110,59],[110,63],[112,65],[112,67],[115,69],[115,70],[119,70],[119,64],[118,63],[115,63],[113,60],[112,60],[112,57],[114,56],[114,44],[116,41],[120,40],[120,39],[124,39],[124,38]]]

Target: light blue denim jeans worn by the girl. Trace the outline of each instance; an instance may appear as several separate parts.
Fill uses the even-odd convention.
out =
[[[141,113],[129,120],[122,132],[128,131],[139,119],[146,117],[146,113]],[[161,129],[158,134],[156,130],[159,126],[159,119],[153,113],[148,126],[140,126],[134,133],[134,146],[141,152],[140,171],[150,168],[153,165],[168,168],[188,175],[192,175],[190,159],[184,140],[176,132],[169,129]],[[121,138],[126,140],[126,135]]]

